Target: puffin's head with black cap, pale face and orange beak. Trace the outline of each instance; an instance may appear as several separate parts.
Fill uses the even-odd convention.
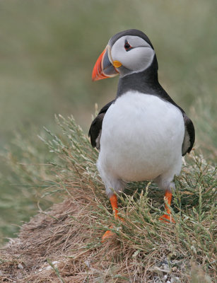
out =
[[[151,41],[140,30],[124,30],[114,35],[93,68],[92,79],[127,76],[147,69],[155,51]]]

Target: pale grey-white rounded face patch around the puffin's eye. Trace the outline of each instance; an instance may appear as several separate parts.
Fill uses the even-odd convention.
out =
[[[132,47],[128,51],[124,48],[126,42]],[[141,37],[125,35],[120,37],[112,46],[111,55],[113,62],[117,60],[122,63],[123,67],[129,70],[124,75],[120,71],[120,76],[125,76],[147,69],[153,62],[155,52]]]

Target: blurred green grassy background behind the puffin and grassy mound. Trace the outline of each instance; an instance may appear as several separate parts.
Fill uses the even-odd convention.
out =
[[[95,103],[101,108],[112,100],[118,80],[93,83],[95,60],[112,35],[137,28],[155,47],[160,83],[192,118],[196,146],[213,162],[216,14],[216,0],[0,1],[1,152],[9,147],[19,156],[18,143],[25,148],[23,141],[28,139],[28,151],[34,156],[37,148],[35,162],[43,163],[49,156],[37,134],[43,126],[56,131],[55,113],[73,114],[88,132]],[[13,185],[22,180],[4,158],[0,169],[3,239],[15,236],[16,225],[37,212],[38,191]]]

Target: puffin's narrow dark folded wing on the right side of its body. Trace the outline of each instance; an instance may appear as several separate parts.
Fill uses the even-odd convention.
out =
[[[182,112],[184,119],[184,140],[182,144],[182,156],[189,153],[192,150],[195,139],[194,124],[187,115]]]

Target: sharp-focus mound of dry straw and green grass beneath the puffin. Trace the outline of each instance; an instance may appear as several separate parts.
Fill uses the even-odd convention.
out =
[[[176,180],[175,224],[158,221],[163,192],[155,184],[129,184],[119,223],[96,172],[97,151],[72,117],[59,119],[62,137],[47,131],[45,141],[59,156],[46,194],[65,200],[40,210],[1,250],[1,282],[215,282],[216,169],[189,156]],[[111,224],[115,236],[101,243]]]

